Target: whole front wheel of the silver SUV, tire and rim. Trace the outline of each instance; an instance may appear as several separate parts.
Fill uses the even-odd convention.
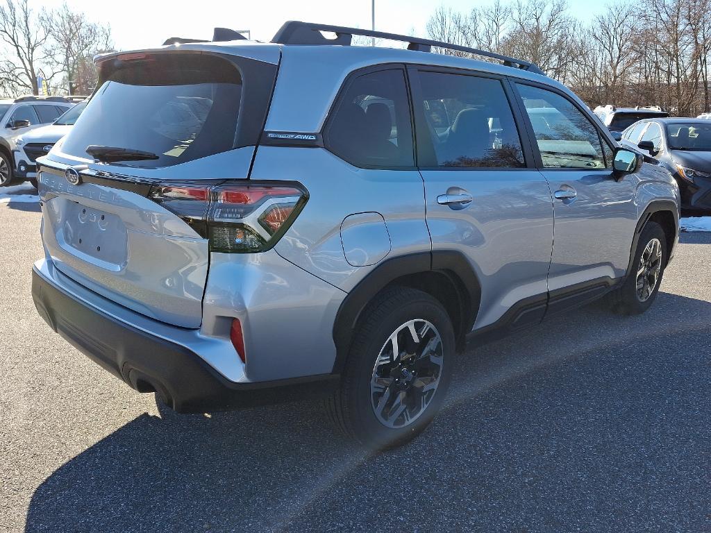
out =
[[[622,315],[639,315],[652,305],[664,275],[668,257],[666,247],[662,227],[657,222],[647,222],[624,284],[606,296],[613,311]]]

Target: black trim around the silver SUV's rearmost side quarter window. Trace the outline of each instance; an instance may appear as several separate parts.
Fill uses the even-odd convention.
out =
[[[409,112],[410,134],[412,135],[412,161],[415,163],[414,166],[364,165],[363,163],[355,163],[354,161],[348,161],[348,159],[344,158],[340,154],[336,154],[336,152],[332,151],[328,147],[328,144],[329,144],[328,143],[328,130],[331,129],[331,124],[333,123],[333,120],[336,118],[338,108],[341,106],[341,102],[343,102],[343,98],[346,97],[346,94],[348,94],[348,90],[351,88],[351,85],[353,85],[353,82],[355,82],[355,80],[357,80],[361,76],[372,74],[373,72],[382,72],[383,70],[400,70],[400,72],[402,72],[402,77],[405,79],[405,93],[407,94],[407,106],[409,107],[409,111],[410,111]],[[346,161],[346,163],[348,163],[349,165],[355,166],[356,168],[365,168],[368,170],[416,171],[417,170],[417,136],[415,135],[415,120],[412,115],[412,94],[410,91],[410,80],[407,77],[407,69],[405,68],[405,65],[402,63],[380,63],[378,65],[370,65],[368,67],[358,68],[356,70],[352,70],[351,72],[348,72],[348,75],[343,80],[343,83],[341,83],[341,87],[338,89],[338,92],[336,93],[336,97],[333,99],[333,101],[331,102],[331,105],[328,107],[328,110],[326,112],[326,120],[324,121],[324,125],[321,127],[321,131],[319,131],[319,134],[321,135],[324,149],[326,149],[329,154],[333,154],[333,156],[336,156],[337,158],[341,159],[341,161]]]

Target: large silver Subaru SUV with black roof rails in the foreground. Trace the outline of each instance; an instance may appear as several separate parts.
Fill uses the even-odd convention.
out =
[[[393,446],[467,340],[655,298],[675,181],[535,65],[300,22],[176,41],[97,58],[38,160],[36,307],[139,392],[180,412],[326,397],[348,435]]]

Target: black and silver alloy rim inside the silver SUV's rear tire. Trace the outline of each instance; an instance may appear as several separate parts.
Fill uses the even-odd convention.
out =
[[[442,338],[429,321],[397,328],[380,349],[370,379],[370,404],[381,424],[397,429],[427,410],[442,376]]]

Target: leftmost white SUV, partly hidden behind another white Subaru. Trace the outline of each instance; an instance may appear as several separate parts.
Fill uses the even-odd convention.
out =
[[[73,107],[70,99],[58,96],[23,96],[0,100],[0,187],[15,178],[16,139],[32,129],[51,124]]]

